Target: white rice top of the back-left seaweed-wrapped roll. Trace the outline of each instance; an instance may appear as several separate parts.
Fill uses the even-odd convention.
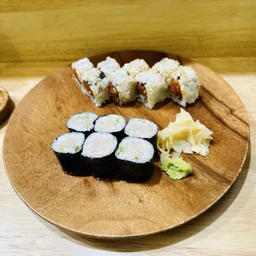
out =
[[[67,127],[78,131],[92,130],[96,119],[97,115],[92,112],[79,113],[69,118]]]

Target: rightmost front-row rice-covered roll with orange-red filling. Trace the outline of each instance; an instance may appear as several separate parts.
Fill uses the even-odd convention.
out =
[[[169,87],[168,97],[183,107],[186,107],[187,103],[195,102],[199,96],[201,83],[192,67],[179,66],[173,71],[172,78],[169,78],[167,83]]]

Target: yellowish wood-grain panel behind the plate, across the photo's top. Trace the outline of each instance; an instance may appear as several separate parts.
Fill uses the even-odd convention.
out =
[[[254,56],[255,26],[256,0],[0,0],[0,62],[125,49]]]

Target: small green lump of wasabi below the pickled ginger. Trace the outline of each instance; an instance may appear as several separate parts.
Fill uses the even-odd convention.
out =
[[[170,178],[175,180],[185,178],[192,174],[191,164],[181,158],[165,159],[162,170],[166,172]]]

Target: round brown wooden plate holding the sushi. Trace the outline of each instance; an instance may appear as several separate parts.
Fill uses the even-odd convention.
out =
[[[124,238],[173,229],[201,215],[224,195],[237,178],[249,146],[249,123],[239,97],[216,73],[190,59],[152,51],[109,54],[120,64],[143,58],[149,65],[164,56],[191,65],[201,79],[200,99],[186,107],[213,131],[210,154],[183,154],[193,175],[173,181],[155,162],[147,183],[97,181],[62,172],[50,145],[67,131],[69,116],[82,111],[147,118],[168,126],[180,107],[171,101],[153,110],[139,102],[95,107],[73,81],[70,66],[42,80],[14,111],[3,145],[7,175],[17,194],[39,216],[61,228],[98,238]],[[92,57],[92,62],[107,55]],[[111,164],[111,163],[110,163]]]

